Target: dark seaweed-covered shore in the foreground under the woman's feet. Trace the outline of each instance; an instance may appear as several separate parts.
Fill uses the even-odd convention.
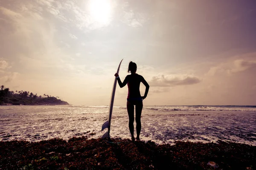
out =
[[[176,141],[175,145],[129,139],[40,142],[0,141],[0,169],[248,169],[256,168],[256,146],[234,142]]]

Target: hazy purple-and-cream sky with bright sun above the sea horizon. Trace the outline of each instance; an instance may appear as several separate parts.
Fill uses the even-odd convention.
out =
[[[144,105],[256,105],[255,30],[254,0],[0,0],[0,84],[109,105],[123,59]]]

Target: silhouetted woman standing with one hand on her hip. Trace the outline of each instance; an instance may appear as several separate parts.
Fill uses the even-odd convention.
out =
[[[120,88],[123,88],[126,84],[128,85],[128,96],[127,96],[127,111],[129,116],[129,129],[131,132],[131,140],[134,141],[134,105],[136,112],[136,131],[137,137],[136,140],[140,140],[140,130],[141,130],[141,122],[140,116],[143,108],[143,99],[145,99],[148,95],[149,85],[146,80],[139,74],[136,74],[137,65],[135,62],[130,62],[128,66],[128,73],[125,77],[124,82],[121,82],[119,75],[115,74],[117,82]],[[140,95],[140,82],[142,82],[146,86],[144,96]]]

